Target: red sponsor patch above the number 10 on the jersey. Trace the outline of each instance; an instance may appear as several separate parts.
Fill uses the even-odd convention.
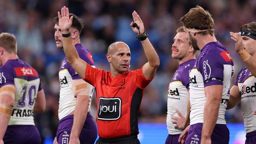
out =
[[[17,76],[38,76],[34,68],[17,67],[17,68],[14,68],[14,70]]]

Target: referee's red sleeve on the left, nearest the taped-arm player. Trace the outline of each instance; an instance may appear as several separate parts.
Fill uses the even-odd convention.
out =
[[[93,66],[90,66],[87,63],[86,70],[85,70],[85,78],[83,78],[83,80],[93,85],[93,87],[95,87],[96,81],[101,80],[101,79],[98,79],[98,77],[100,77],[103,72],[104,70],[93,68]]]

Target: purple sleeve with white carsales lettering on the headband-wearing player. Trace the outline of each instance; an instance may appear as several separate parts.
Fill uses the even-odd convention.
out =
[[[223,85],[224,66],[220,59],[216,59],[212,54],[206,54],[200,60],[198,69],[202,74],[204,87]]]

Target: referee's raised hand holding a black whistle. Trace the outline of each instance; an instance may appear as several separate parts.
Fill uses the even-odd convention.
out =
[[[131,22],[130,26],[131,26],[132,30],[134,31],[134,33],[136,33],[137,35],[144,33],[144,31],[145,31],[144,24],[136,11],[134,11],[132,13],[132,17],[133,17],[134,21]],[[137,26],[139,26],[139,30],[136,27],[132,26],[134,23],[136,23]]]

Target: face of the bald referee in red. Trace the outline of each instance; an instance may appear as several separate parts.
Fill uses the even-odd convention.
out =
[[[130,48],[125,43],[116,44],[111,55],[113,69],[118,73],[126,72],[129,69],[131,61]]]

